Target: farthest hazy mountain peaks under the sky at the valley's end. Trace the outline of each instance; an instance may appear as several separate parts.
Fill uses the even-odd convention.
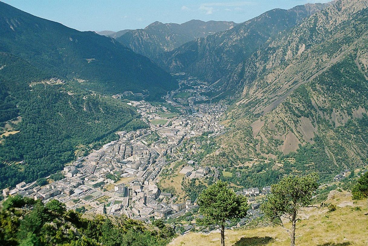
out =
[[[233,28],[232,21],[191,20],[183,24],[153,22],[144,29],[126,31],[116,40],[133,51],[156,60],[159,54],[184,43]],[[123,31],[121,31],[123,32]]]

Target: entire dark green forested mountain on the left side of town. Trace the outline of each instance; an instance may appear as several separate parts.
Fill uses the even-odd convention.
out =
[[[0,2],[0,187],[61,170],[119,130],[145,128],[111,94],[159,100],[176,82],[112,38]]]

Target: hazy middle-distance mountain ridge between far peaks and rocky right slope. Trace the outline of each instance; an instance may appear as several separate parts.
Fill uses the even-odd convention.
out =
[[[187,72],[221,86],[239,63],[247,60],[270,37],[293,28],[329,4],[305,4],[273,9],[234,28],[183,44],[162,56],[171,72]],[[219,83],[220,82],[220,83]],[[236,91],[235,86],[228,86]],[[234,93],[234,92],[232,92]]]

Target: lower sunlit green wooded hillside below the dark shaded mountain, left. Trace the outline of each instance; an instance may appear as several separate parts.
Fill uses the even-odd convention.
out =
[[[42,80],[45,72],[7,53],[0,54],[0,64],[0,187],[61,170],[75,150],[114,139],[115,131],[146,127],[126,104],[89,92],[76,80],[49,84]],[[18,115],[20,120],[10,121]]]

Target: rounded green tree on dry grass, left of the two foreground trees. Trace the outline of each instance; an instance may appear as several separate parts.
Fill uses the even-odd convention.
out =
[[[199,225],[214,225],[220,228],[221,245],[225,245],[226,221],[237,221],[247,215],[248,203],[245,196],[236,195],[228,188],[226,182],[217,181],[198,196],[199,213],[203,218],[198,219]]]

